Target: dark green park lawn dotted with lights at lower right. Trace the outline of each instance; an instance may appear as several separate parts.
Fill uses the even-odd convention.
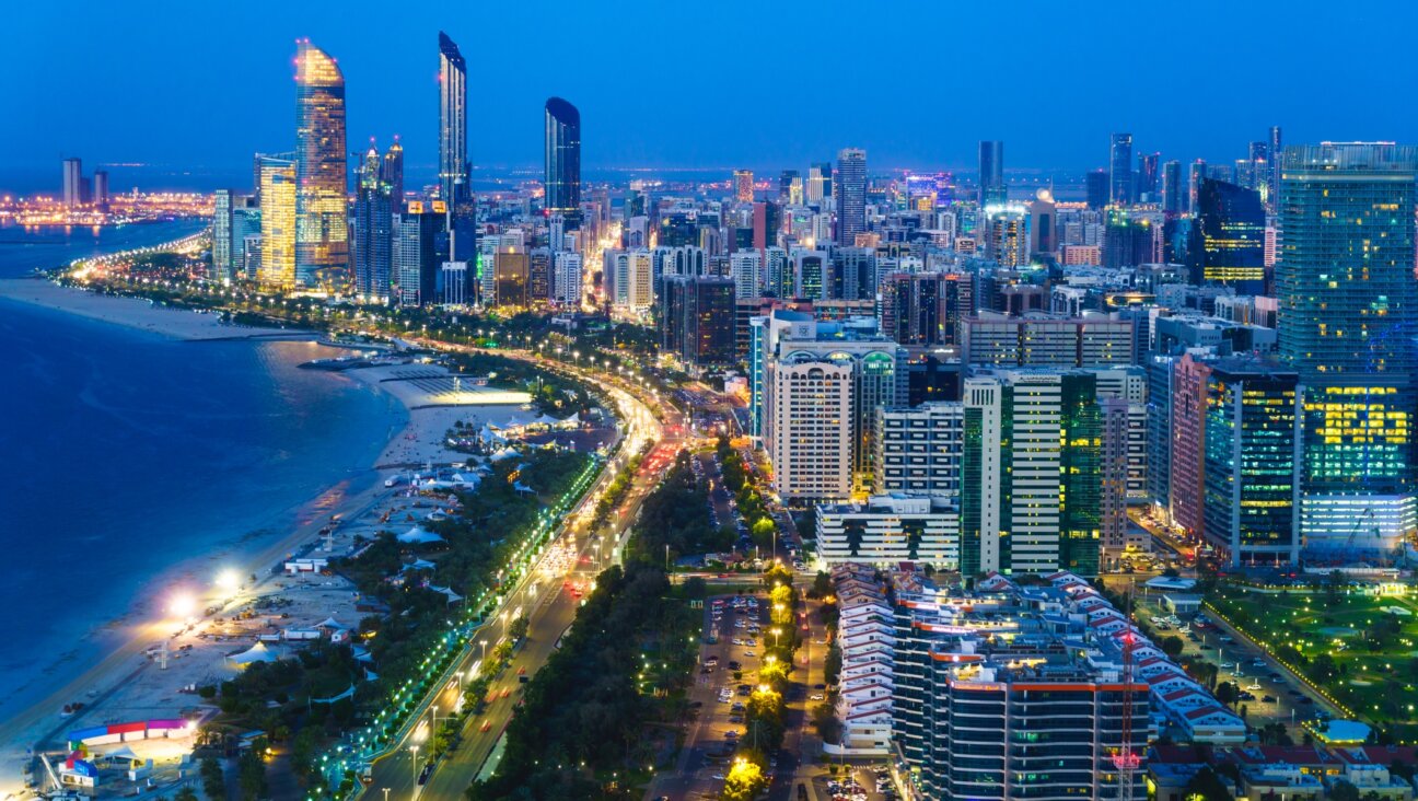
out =
[[[1222,587],[1211,603],[1361,719],[1394,726],[1404,739],[1418,734],[1414,598],[1344,588],[1272,594]]]

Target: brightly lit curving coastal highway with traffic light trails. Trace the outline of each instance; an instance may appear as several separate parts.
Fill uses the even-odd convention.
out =
[[[430,347],[448,347],[432,342],[427,345]],[[459,347],[459,350],[465,349]],[[564,363],[543,362],[525,353],[499,352],[499,354],[515,359],[535,359],[540,366],[571,374],[581,381],[597,384],[601,391],[615,397],[621,405],[621,420],[625,425],[623,454],[627,456],[637,452],[645,442],[658,441],[662,447],[668,447],[671,452],[678,448],[683,432],[683,425],[679,422],[678,414],[669,407],[659,405],[657,398],[645,397],[648,391],[644,387],[610,379],[600,373],[579,370]],[[658,414],[652,413],[651,407],[655,407]],[[564,587],[566,581],[574,577],[579,583],[588,583],[594,577],[601,559],[608,557],[621,544],[618,542],[611,543],[611,549],[603,550],[604,544],[586,533],[586,525],[596,508],[596,499],[614,478],[613,474],[614,471],[608,469],[601,475],[601,481],[586,495],[577,509],[567,515],[562,532],[553,540],[557,543],[574,543],[576,559],[567,566],[567,570],[556,576],[547,576],[543,567],[539,566],[536,570],[527,571],[522,583],[508,595],[502,611],[508,612],[510,620],[510,615],[520,607],[523,614],[527,615],[527,637],[513,654],[509,666],[492,680],[489,689],[492,702],[486,705],[482,713],[468,717],[462,730],[462,740],[457,750],[440,760],[424,785],[417,783],[418,773],[425,766],[425,754],[414,751],[413,747],[420,746],[430,736],[432,730],[432,707],[437,705],[441,710],[440,715],[445,715],[457,703],[459,690],[457,682],[451,682],[440,688],[432,698],[427,699],[423,717],[430,724],[414,726],[397,747],[374,763],[372,771],[373,781],[366,788],[366,798],[383,801],[387,795],[390,800],[403,800],[418,798],[424,794],[430,798],[461,798],[468,784],[476,778],[496,749],[498,740],[502,737],[512,712],[520,699],[519,690],[522,685],[519,672],[525,671],[527,676],[536,673],[552,655],[557,639],[560,639],[562,634],[576,618],[580,601]],[[631,488],[627,492],[620,513],[613,515],[611,527],[618,534],[624,534],[625,525],[634,519],[640,510],[640,505],[659,483],[661,476],[662,469],[658,465],[654,468],[642,465],[632,476]],[[536,578],[536,583],[533,583],[533,578]],[[479,635],[479,642],[481,639],[488,641],[488,649],[501,641],[501,628],[503,625],[501,614],[489,617],[488,624],[484,627],[485,635]],[[482,659],[482,648],[472,649],[472,654],[458,665],[458,672],[467,675]],[[484,726],[488,727],[486,732],[482,730]]]

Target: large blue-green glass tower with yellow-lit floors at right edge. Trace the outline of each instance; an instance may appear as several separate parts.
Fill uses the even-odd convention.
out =
[[[1412,476],[1418,149],[1286,147],[1279,350],[1305,387],[1300,530],[1310,547],[1418,527]]]

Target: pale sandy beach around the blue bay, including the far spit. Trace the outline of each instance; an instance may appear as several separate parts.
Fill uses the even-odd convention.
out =
[[[138,299],[95,295],[34,279],[0,281],[0,298],[184,340],[318,336],[315,332],[228,326],[213,315],[155,308]],[[427,513],[418,508],[421,500],[386,488],[386,478],[404,468],[467,459],[447,444],[445,435],[455,422],[481,427],[512,415],[529,415],[523,410],[527,397],[522,393],[476,387],[437,364],[396,362],[393,357],[380,362],[376,367],[342,373],[374,391],[391,394],[408,410],[408,424],[389,442],[370,472],[329,488],[291,510],[295,525],[279,537],[262,542],[259,549],[224,554],[220,566],[235,570],[244,587],[235,598],[220,598],[217,590],[199,598],[199,610],[216,605],[218,611],[214,614],[189,625],[177,620],[153,621],[162,612],[135,607],[105,627],[104,635],[94,638],[96,648],[108,651],[102,659],[57,692],[37,699],[21,715],[0,723],[0,797],[23,791],[21,770],[30,763],[30,749],[62,747],[68,730],[133,719],[210,713],[211,709],[184,688],[230,678],[235,668],[227,656],[250,648],[262,634],[271,637],[284,628],[313,627],[326,618],[354,625],[362,612],[354,610],[353,587],[343,578],[318,573],[291,577],[272,574],[271,568],[301,553],[312,559],[342,554],[350,549],[354,536],[372,536],[386,526],[384,522],[391,527],[396,520],[407,526],[408,520],[420,519]],[[322,529],[333,530],[325,536]],[[167,583],[174,577],[207,577],[210,583],[217,567],[217,556],[213,554],[172,566],[153,580]],[[250,581],[252,574],[258,577],[255,583]],[[240,625],[230,620],[231,611],[250,607],[255,598],[278,600],[282,604],[279,612],[289,614],[289,618],[277,621],[257,614]],[[223,622],[216,622],[217,618]],[[169,659],[166,669],[159,669],[155,652],[163,639],[167,639],[169,652],[176,658]],[[288,652],[285,645],[274,648],[278,655]],[[61,715],[61,709],[74,702],[82,702],[84,709]]]

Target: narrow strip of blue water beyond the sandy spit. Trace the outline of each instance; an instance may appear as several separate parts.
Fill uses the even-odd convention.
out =
[[[77,258],[160,245],[196,234],[206,227],[204,220],[130,223],[104,228],[54,225],[24,228],[0,223],[0,278],[27,275],[37,268],[61,267]]]

